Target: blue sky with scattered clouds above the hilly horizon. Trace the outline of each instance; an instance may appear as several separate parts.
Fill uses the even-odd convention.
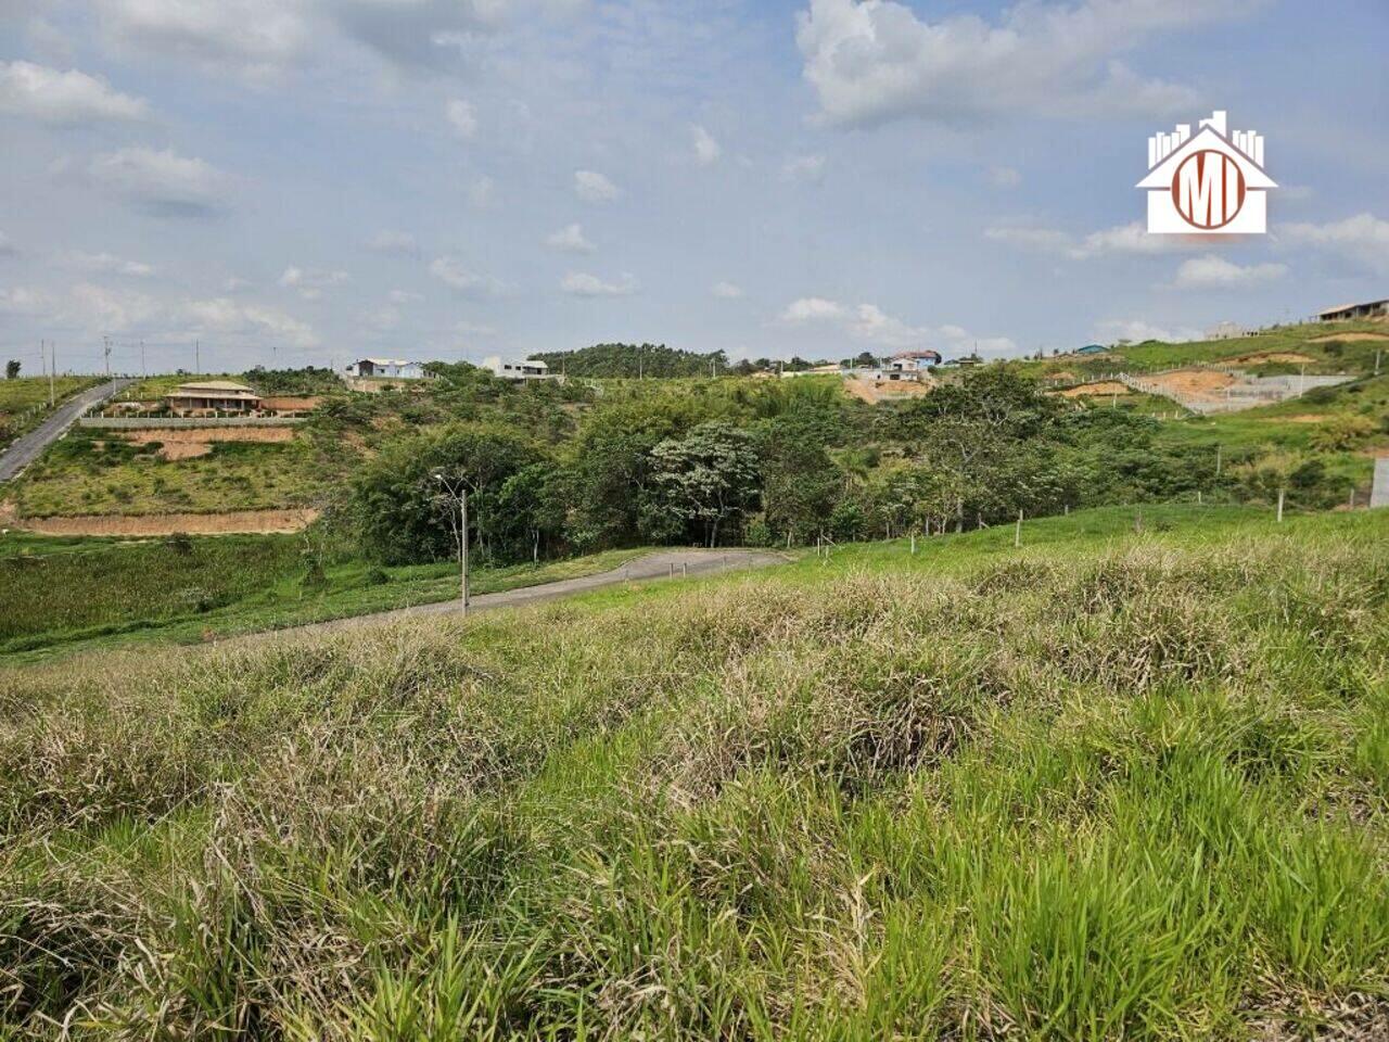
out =
[[[1385,0],[0,0],[0,356],[1195,338],[1389,296]],[[1147,138],[1265,135],[1265,236]],[[140,345],[143,343],[143,350]]]

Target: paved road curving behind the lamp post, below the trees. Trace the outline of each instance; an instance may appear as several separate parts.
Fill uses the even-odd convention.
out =
[[[489,611],[513,604],[532,604],[542,600],[568,597],[600,586],[613,586],[619,582],[640,582],[643,579],[661,579],[671,575],[683,578],[686,575],[708,575],[720,571],[738,571],[742,568],[763,568],[770,564],[785,564],[789,557],[770,550],[661,550],[649,553],[644,557],[628,561],[611,571],[583,575],[576,579],[561,579],[546,582],[539,586],[522,586],[500,593],[479,593],[469,599],[468,614],[475,611]],[[457,600],[440,600],[435,604],[419,604],[417,607],[396,609],[394,611],[378,611],[371,615],[353,615],[351,618],[338,618],[331,622],[311,622],[290,629],[276,629],[276,634],[328,632],[344,629],[369,622],[392,622],[400,618],[417,618],[424,615],[457,614]],[[264,636],[264,634],[261,634]]]

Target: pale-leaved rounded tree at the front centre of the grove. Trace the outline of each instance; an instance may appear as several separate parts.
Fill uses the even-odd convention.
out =
[[[757,447],[747,431],[724,421],[700,424],[651,450],[656,504],[686,525],[701,525],[708,546],[729,520],[756,507]]]

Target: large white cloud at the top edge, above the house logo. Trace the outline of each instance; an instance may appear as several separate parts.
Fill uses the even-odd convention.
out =
[[[997,24],[920,19],[893,0],[811,0],[797,15],[804,76],[835,124],[918,117],[1167,114],[1195,107],[1189,88],[1143,81],[1115,60],[1153,35],[1238,18],[1260,0],[1018,3]]]

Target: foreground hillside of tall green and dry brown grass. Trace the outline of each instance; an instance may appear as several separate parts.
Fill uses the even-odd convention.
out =
[[[1389,514],[0,674],[15,1036],[1389,1028]]]

